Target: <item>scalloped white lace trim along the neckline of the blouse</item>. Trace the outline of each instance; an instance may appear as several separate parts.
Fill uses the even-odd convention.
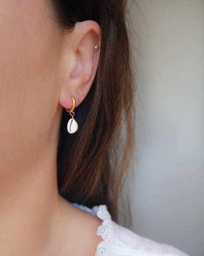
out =
[[[101,236],[103,241],[98,244],[95,256],[108,256],[113,239],[111,216],[106,205],[94,206],[93,211],[103,221],[102,225],[100,225],[97,230],[97,235]]]

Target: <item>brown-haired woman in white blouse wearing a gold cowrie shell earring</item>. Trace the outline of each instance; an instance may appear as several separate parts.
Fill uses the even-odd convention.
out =
[[[133,141],[125,12],[0,1],[0,256],[185,255],[110,219]]]

